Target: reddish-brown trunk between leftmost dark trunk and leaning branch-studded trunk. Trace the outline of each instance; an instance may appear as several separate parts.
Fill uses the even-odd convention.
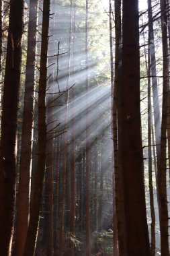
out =
[[[32,166],[32,123],[34,115],[34,85],[36,61],[36,22],[38,1],[30,0],[28,24],[28,50],[26,63],[26,84],[22,126],[22,146],[19,166],[19,185],[16,225],[16,255],[22,256],[28,229],[30,207],[30,168]]]

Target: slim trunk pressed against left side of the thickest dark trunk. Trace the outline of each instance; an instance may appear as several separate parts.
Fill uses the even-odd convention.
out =
[[[124,194],[121,192],[123,189],[122,184],[122,164],[118,158],[118,86],[122,81],[122,24],[121,24],[121,1],[116,0],[114,2],[115,12],[115,77],[114,87],[112,88],[112,122],[113,122],[113,139],[114,139],[114,254],[124,255],[126,254],[126,239],[124,237],[124,229],[126,229],[125,218],[124,218]],[[121,115],[121,113],[119,112]],[[118,241],[116,241],[118,240]],[[118,249],[119,247],[119,249]]]

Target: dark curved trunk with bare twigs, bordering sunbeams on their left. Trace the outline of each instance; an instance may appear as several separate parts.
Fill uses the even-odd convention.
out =
[[[46,164],[46,79],[47,79],[47,53],[48,28],[50,18],[50,0],[44,0],[42,16],[42,45],[40,55],[40,79],[38,89],[38,163],[34,173],[34,187],[30,204],[30,223],[26,238],[24,256],[34,255],[39,226],[42,190]]]

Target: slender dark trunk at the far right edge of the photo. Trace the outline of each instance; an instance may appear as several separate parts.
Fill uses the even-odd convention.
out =
[[[167,8],[167,1],[161,0],[161,12]],[[163,104],[161,125],[161,161],[158,168],[159,222],[161,232],[161,255],[169,255],[169,216],[167,208],[167,13],[161,16],[162,44],[163,44]]]

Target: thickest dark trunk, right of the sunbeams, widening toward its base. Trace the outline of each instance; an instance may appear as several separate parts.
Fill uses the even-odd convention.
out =
[[[140,121],[140,55],[138,1],[123,0],[122,83],[118,89],[119,154],[122,160],[124,234],[122,255],[151,255],[146,221],[144,170]],[[119,113],[118,113],[119,114]]]

